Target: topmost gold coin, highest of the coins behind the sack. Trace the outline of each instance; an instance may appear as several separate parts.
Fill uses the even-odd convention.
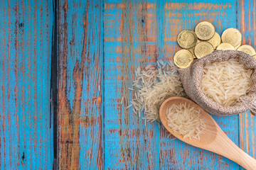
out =
[[[201,23],[198,23],[195,28],[195,32],[199,39],[210,40],[210,38],[212,38],[215,33],[215,28],[213,24],[207,21],[203,21]]]

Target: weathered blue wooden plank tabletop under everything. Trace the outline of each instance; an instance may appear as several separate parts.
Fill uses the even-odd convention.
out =
[[[255,10],[252,0],[2,0],[0,169],[242,169],[125,108],[134,70],[172,60],[178,33],[200,21],[256,47]],[[255,117],[213,118],[256,157]]]

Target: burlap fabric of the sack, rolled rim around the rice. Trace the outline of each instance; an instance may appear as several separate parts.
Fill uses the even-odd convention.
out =
[[[255,115],[256,86],[252,86],[247,96],[242,96],[240,102],[235,106],[222,106],[212,99],[208,98],[201,90],[201,77],[203,76],[203,67],[212,62],[221,62],[230,58],[238,58],[240,63],[247,69],[256,69],[256,60],[244,52],[236,50],[225,50],[212,52],[200,60],[195,60],[190,67],[178,69],[181,81],[186,94],[198,103],[205,111],[214,115],[227,116],[251,111]],[[256,84],[256,72],[252,73],[253,84]]]

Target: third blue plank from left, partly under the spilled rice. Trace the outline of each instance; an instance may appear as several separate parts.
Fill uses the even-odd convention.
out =
[[[105,169],[159,169],[159,128],[126,109],[134,69],[159,55],[156,4],[107,0],[104,18]]]

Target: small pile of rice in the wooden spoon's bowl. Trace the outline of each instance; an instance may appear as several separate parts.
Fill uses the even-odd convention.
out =
[[[200,140],[200,135],[206,128],[200,111],[186,103],[173,104],[167,109],[167,123],[176,134],[182,135],[183,139],[188,137],[190,140],[191,137]]]

